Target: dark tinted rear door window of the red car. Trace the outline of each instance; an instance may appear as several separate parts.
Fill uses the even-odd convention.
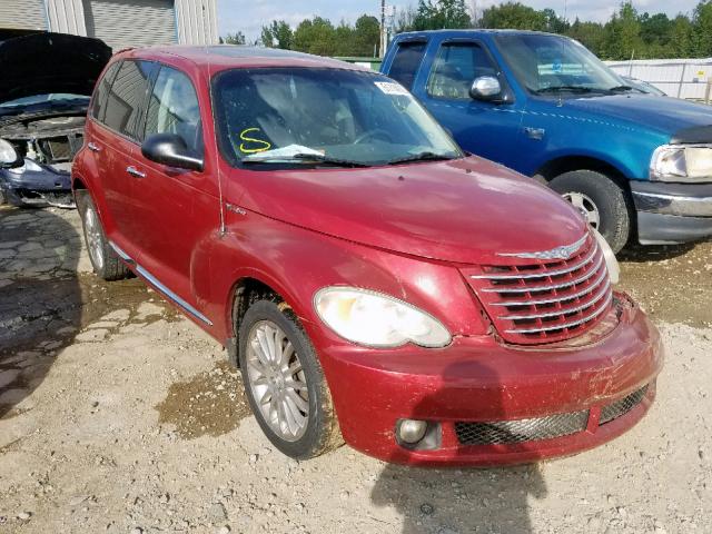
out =
[[[119,134],[137,138],[137,125],[154,69],[150,61],[123,61],[107,98],[103,123]]]

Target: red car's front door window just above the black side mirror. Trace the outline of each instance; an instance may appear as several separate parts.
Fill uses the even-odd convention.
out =
[[[152,134],[177,134],[194,154],[202,154],[196,90],[185,73],[170,67],[160,68],[148,105],[145,137]]]

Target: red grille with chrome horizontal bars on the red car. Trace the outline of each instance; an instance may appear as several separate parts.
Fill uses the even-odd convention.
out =
[[[568,259],[546,258],[546,253],[541,256],[544,259],[510,257],[508,265],[463,269],[495,328],[508,343],[541,344],[575,337],[611,308],[613,293],[605,259],[592,235]]]

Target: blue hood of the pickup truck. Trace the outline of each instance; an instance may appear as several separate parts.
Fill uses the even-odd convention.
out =
[[[712,107],[701,103],[650,95],[614,95],[564,100],[564,107],[652,128],[679,142],[712,142]],[[686,139],[684,132],[695,132],[696,138]]]

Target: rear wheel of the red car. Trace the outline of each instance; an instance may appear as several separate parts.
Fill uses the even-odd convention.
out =
[[[131,271],[109,245],[91,197],[87,191],[77,191],[76,198],[93,271],[107,281],[128,278]]]

